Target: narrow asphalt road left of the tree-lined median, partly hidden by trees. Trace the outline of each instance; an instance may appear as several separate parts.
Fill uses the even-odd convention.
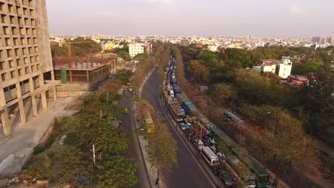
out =
[[[133,118],[131,115],[131,99],[133,98],[133,93],[126,93],[123,95],[120,105],[128,108],[128,113],[121,116],[122,121],[120,128],[124,130],[130,137],[130,142],[128,148],[126,149],[124,155],[127,158],[131,158],[137,163],[137,170],[135,172],[136,177],[138,177],[138,184],[134,187],[138,188],[148,188],[151,187],[149,182],[148,174],[146,171],[145,162],[143,160],[143,155],[141,153],[141,147],[138,142],[138,137],[136,135],[136,127],[133,124]]]

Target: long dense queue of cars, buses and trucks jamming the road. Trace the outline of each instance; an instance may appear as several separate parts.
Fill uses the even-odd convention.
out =
[[[165,70],[166,80],[162,83],[163,103],[178,129],[186,135],[183,138],[193,144],[198,155],[201,155],[220,179],[220,184],[226,187],[272,187],[269,184],[269,174],[260,167],[255,167],[255,164],[243,162],[243,157],[231,141],[217,133],[216,125],[198,112],[178,85],[175,70],[176,61],[171,56]],[[222,120],[226,120],[226,117],[222,117]],[[223,152],[222,146],[226,146],[228,152]]]

